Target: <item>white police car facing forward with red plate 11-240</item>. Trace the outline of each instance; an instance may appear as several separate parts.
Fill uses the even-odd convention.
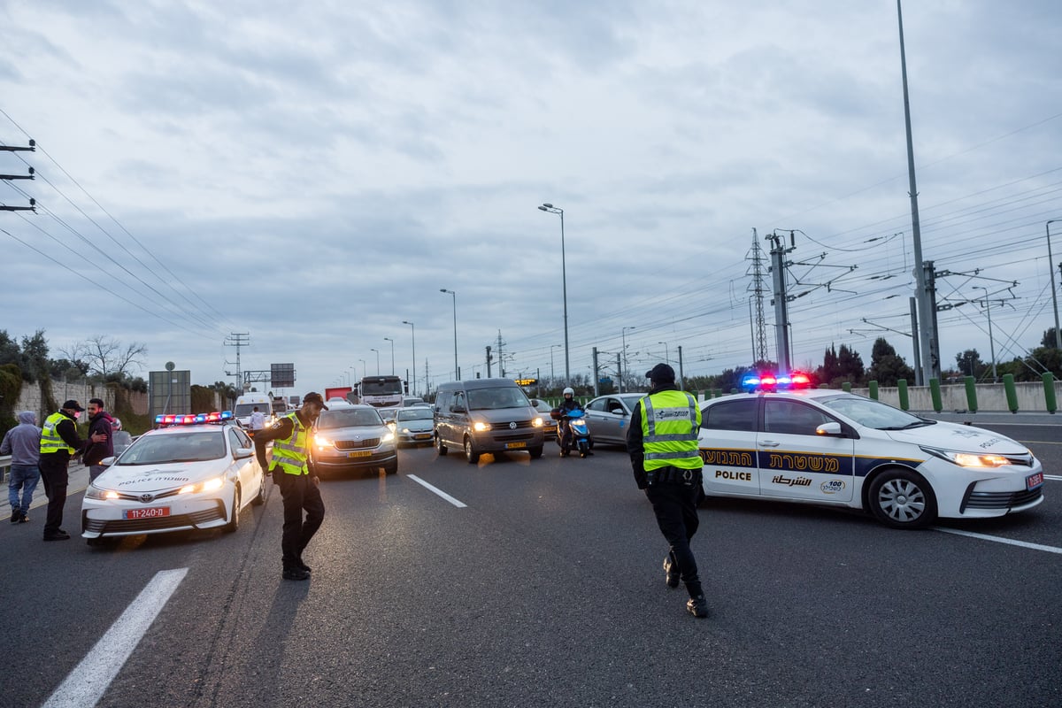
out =
[[[240,512],[266,501],[254,443],[230,414],[158,416],[89,484],[82,536],[103,538],[191,529],[236,531]]]

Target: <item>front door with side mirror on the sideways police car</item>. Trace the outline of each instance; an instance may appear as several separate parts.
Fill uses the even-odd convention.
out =
[[[855,439],[817,434],[816,429],[826,422],[838,421],[800,400],[764,397],[756,449],[765,497],[822,502],[852,499]]]

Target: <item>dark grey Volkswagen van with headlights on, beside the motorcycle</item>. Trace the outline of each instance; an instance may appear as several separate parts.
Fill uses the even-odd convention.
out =
[[[543,431],[549,425],[512,379],[472,379],[439,386],[435,395],[435,447],[464,450],[476,464],[483,452],[527,450],[542,456]]]

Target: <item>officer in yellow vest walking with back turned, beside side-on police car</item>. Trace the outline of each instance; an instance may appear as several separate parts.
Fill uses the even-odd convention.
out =
[[[664,558],[665,582],[676,588],[681,580],[689,592],[686,610],[693,617],[707,617],[697,560],[689,549],[700,524],[697,500],[703,463],[697,433],[701,411],[692,396],[675,386],[674,369],[667,364],[656,364],[646,372],[646,378],[652,387],[631,415],[627,451],[634,480],[645,489],[670,547]]]

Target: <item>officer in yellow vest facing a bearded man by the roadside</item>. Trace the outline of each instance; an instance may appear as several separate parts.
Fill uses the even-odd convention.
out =
[[[63,507],[66,506],[66,488],[70,482],[70,457],[80,454],[89,443],[102,443],[109,435],[93,433],[88,441],[78,436],[78,414],[84,411],[81,403],[71,399],[45,418],[40,431],[40,479],[48,495],[48,514],[45,519],[45,540],[63,541],[70,534],[63,531]]]

